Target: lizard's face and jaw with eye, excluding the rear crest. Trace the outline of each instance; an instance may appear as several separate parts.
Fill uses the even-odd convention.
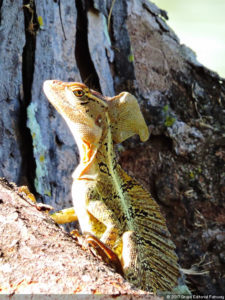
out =
[[[107,131],[106,99],[79,82],[47,80],[43,89],[50,103],[67,122],[76,141],[97,144]]]

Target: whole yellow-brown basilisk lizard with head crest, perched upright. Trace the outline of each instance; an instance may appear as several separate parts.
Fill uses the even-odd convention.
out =
[[[103,97],[77,82],[47,80],[44,92],[68,124],[80,152],[73,173],[74,208],[52,217],[78,218],[82,232],[115,252],[124,276],[135,286],[171,291],[180,277],[175,246],[159,206],[117,163],[114,143],[134,134],[149,138],[136,98],[122,92]]]

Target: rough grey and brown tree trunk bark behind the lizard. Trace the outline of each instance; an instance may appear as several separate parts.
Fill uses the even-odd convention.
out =
[[[0,1],[0,176],[68,207],[77,148],[43,81],[134,93],[151,137],[120,146],[120,163],[161,205],[180,264],[208,272],[192,290],[223,294],[225,81],[166,17],[147,0]]]

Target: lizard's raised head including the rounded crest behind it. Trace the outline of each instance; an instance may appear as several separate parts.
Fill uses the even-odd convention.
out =
[[[49,101],[67,121],[76,140],[79,137],[96,144],[109,126],[115,143],[134,134],[138,134],[142,141],[149,137],[137,99],[130,93],[103,97],[83,83],[59,80],[47,80],[43,88]]]

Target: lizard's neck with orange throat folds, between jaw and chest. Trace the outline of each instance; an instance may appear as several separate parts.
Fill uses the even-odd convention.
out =
[[[101,175],[111,176],[116,169],[117,162],[108,113],[106,113],[106,120],[107,130],[97,145],[76,140],[80,153],[80,164],[73,173],[74,179],[97,180]]]

